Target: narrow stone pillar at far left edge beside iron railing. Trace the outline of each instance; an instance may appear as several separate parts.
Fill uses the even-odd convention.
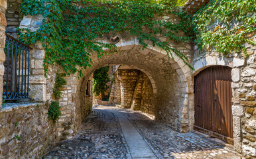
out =
[[[5,19],[5,10],[7,9],[7,0],[0,0],[0,109],[2,108],[2,95],[3,95],[3,74],[5,72],[5,67],[3,62],[5,62],[5,26],[7,26],[7,21]]]

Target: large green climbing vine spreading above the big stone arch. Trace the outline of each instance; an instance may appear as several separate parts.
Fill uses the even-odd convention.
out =
[[[171,23],[155,19],[164,11],[174,13],[182,20]],[[87,68],[91,65],[90,56],[96,52],[102,56],[103,48],[115,49],[114,44],[97,42],[96,38],[113,35],[117,32],[137,36],[143,48],[147,42],[166,50],[168,55],[178,55],[186,64],[188,59],[179,50],[162,42],[157,34],[163,34],[175,42],[190,40],[190,36],[177,36],[176,32],[187,33],[185,19],[176,9],[172,0],[25,0],[21,5],[22,15],[42,15],[42,26],[35,32],[25,29],[21,40],[26,44],[43,42],[46,50],[44,69],[51,64],[59,64],[67,74],[82,73],[76,66]],[[146,32],[143,29],[147,30]],[[24,31],[24,29],[23,29]]]

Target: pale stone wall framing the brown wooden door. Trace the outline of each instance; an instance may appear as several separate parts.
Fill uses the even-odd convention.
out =
[[[209,28],[219,27],[220,24],[214,23]],[[256,41],[254,33],[248,37]],[[232,68],[232,115],[233,115],[233,140],[234,148],[247,158],[256,158],[256,46],[245,44],[247,54],[232,54],[220,56],[214,49],[204,52],[196,50],[193,66],[195,68],[193,76],[201,70],[210,66],[228,66]]]

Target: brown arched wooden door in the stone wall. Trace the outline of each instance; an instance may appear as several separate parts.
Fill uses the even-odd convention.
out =
[[[194,129],[233,144],[231,68],[212,66],[194,79]]]

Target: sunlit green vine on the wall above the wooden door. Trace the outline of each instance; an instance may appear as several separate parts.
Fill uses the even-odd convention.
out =
[[[224,55],[242,51],[247,56],[245,44],[256,44],[249,39],[249,34],[256,32],[255,13],[256,0],[211,1],[192,19],[196,44],[200,49],[215,48]],[[219,25],[215,30],[209,27],[214,22]]]

